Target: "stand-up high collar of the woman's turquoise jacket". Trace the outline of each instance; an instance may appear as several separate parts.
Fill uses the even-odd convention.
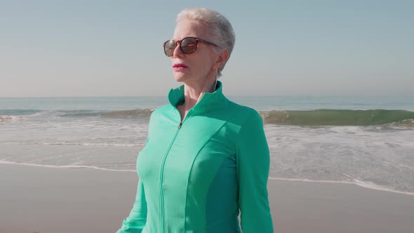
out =
[[[204,93],[199,102],[192,107],[196,112],[208,112],[212,109],[220,107],[225,104],[225,96],[222,93],[222,83],[217,81],[217,88],[213,93]],[[178,88],[171,88],[168,92],[168,101],[173,107],[176,107],[180,102],[184,102],[184,85]]]

